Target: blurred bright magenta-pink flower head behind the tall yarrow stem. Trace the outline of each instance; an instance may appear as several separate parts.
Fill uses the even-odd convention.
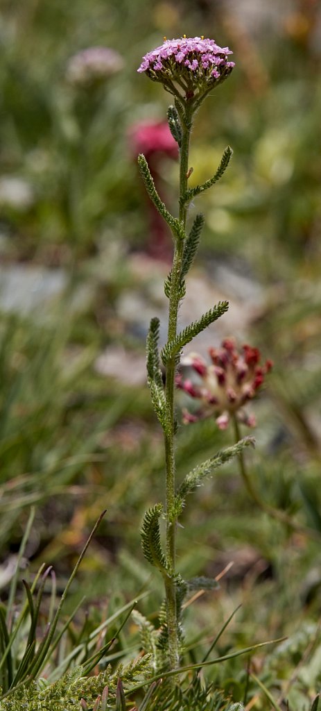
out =
[[[139,153],[143,153],[147,161],[155,154],[178,158],[178,144],[166,122],[138,122],[129,129],[129,140],[135,158]]]

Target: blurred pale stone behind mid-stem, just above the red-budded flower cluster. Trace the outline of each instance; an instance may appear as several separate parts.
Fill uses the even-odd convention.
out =
[[[124,291],[116,304],[121,321],[136,337],[145,339],[149,321],[160,319],[160,345],[166,341],[168,299],[163,292],[163,279],[168,269],[146,255],[135,255],[131,268],[139,280],[136,289]],[[222,338],[233,334],[245,338],[250,324],[257,319],[265,303],[263,289],[251,277],[240,274],[229,264],[215,262],[210,265],[213,279],[201,269],[192,269],[187,277],[187,292],[180,306],[178,327],[185,328],[196,321],[217,301],[229,301],[229,311],[212,326],[193,339],[190,348],[202,351],[217,346]],[[213,283],[214,282],[214,283]]]

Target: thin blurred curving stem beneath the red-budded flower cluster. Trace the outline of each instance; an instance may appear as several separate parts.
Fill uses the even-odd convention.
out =
[[[235,441],[239,442],[239,439],[241,439],[241,434],[239,430],[239,422],[237,422],[236,415],[233,417],[233,422],[234,422],[234,433],[235,433]],[[244,453],[241,451],[239,453],[239,471],[241,473],[241,478],[243,479],[245,488],[251,499],[255,501],[257,506],[261,508],[262,511],[265,511],[271,518],[275,518],[277,521],[281,521],[281,523],[284,523],[287,525],[289,528],[292,530],[298,531],[298,533],[303,533],[304,535],[308,535],[309,538],[313,538],[315,540],[320,541],[320,533],[317,530],[313,530],[312,528],[306,528],[305,526],[301,526],[299,523],[297,523],[293,518],[288,516],[285,511],[281,511],[278,508],[274,508],[274,506],[270,506],[269,503],[266,503],[266,501],[263,501],[261,497],[259,496],[259,493],[256,491],[256,489],[253,486],[253,483],[251,482],[251,478],[248,474],[248,471],[246,470],[246,464],[245,464],[245,459],[244,459]]]

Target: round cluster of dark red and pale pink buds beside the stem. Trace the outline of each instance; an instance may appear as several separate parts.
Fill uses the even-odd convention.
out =
[[[259,348],[243,346],[242,351],[236,349],[234,338],[225,338],[220,348],[210,348],[210,365],[197,353],[182,358],[182,365],[192,368],[197,374],[197,381],[183,378],[180,374],[176,385],[200,400],[201,406],[193,415],[183,411],[185,424],[214,415],[219,429],[226,429],[234,416],[239,422],[255,427],[254,415],[248,415],[241,408],[256,395],[264,376],[272,368],[272,362],[266,360],[260,365]]]

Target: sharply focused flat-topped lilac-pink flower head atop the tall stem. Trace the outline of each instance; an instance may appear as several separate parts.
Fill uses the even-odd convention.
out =
[[[224,81],[232,72],[234,62],[228,60],[232,51],[219,47],[214,40],[186,37],[167,40],[148,52],[138,68],[153,81],[180,99],[201,98]]]

